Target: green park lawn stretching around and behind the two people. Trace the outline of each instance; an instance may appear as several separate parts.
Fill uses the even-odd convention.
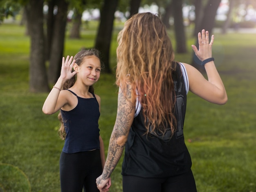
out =
[[[65,40],[64,55],[94,45],[97,25],[89,25],[89,29],[83,29],[82,39]],[[115,26],[112,69],[116,65],[119,24]],[[30,191],[31,187],[32,192],[59,192],[63,141],[57,134],[57,114],[47,116],[41,110],[47,93],[28,91],[29,38],[24,34],[22,26],[0,25],[0,189],[18,191],[17,183],[23,183],[25,187],[19,191]],[[173,33],[170,35],[173,39]],[[194,42],[188,34],[190,52],[177,54],[176,60],[190,63],[190,45]],[[229,101],[220,106],[188,95],[184,134],[198,192],[256,192],[255,54],[255,34],[215,34],[213,56]],[[95,85],[95,92],[101,96],[99,125],[106,154],[117,111],[114,83],[115,76],[101,74]],[[5,168],[1,168],[3,165]],[[10,170],[4,172],[7,168]],[[121,192],[121,161],[111,178],[111,191]]]

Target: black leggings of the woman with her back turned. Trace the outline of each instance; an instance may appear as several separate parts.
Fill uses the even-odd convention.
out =
[[[123,176],[123,192],[196,192],[192,171],[167,178]]]

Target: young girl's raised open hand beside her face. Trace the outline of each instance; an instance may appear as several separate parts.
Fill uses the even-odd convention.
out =
[[[63,57],[60,78],[63,78],[65,80],[72,78],[76,74],[76,71],[72,72],[74,64],[75,60],[73,60],[73,56],[67,56],[66,60],[65,57]]]

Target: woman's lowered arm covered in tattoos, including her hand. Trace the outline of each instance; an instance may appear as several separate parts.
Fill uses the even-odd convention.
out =
[[[131,92],[131,86],[127,86],[126,94],[119,89],[117,117],[110,137],[108,156],[101,176],[96,180],[100,192],[110,188],[110,175],[117,166],[127,141],[130,126],[135,113],[135,98]]]

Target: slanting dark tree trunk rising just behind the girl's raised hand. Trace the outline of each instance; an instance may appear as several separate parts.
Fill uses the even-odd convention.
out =
[[[68,3],[64,0],[57,0],[58,13],[54,21],[54,29],[52,36],[52,46],[50,54],[50,62],[48,69],[49,83],[56,83],[61,71],[61,62],[63,57],[65,28],[67,24],[67,7]]]

